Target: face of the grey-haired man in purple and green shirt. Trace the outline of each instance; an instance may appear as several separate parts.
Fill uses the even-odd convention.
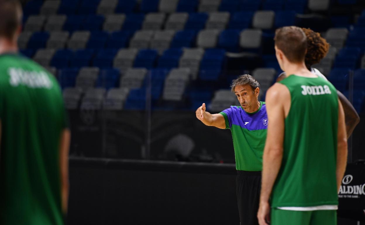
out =
[[[234,88],[234,93],[243,110],[246,112],[255,112],[258,109],[258,94],[260,94],[260,88],[252,90],[251,86],[248,84],[237,85]]]

